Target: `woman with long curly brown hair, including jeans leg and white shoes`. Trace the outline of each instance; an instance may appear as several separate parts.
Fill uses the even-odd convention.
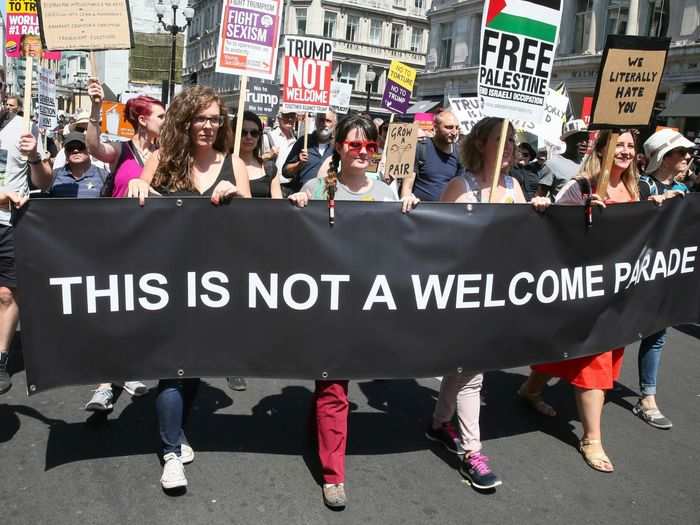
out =
[[[250,197],[245,165],[228,153],[232,132],[226,106],[208,87],[195,86],[173,99],[165,115],[160,149],[139,179],[129,182],[129,197],[143,206],[149,193],[208,196],[213,204],[233,196]],[[156,190],[153,190],[153,186]],[[199,387],[198,378],[162,379],[156,412],[163,452],[164,489],[187,486],[183,465],[194,460],[183,425]]]

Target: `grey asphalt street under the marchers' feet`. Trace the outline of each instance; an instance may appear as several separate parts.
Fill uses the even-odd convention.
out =
[[[0,397],[0,523],[698,525],[700,340],[670,332],[659,378],[669,431],[631,413],[636,355],[628,348],[603,416],[613,474],[593,471],[576,451],[581,425],[568,385],[547,389],[560,412],[548,419],[514,397],[526,368],[487,374],[482,439],[503,479],[488,494],[424,438],[437,380],[352,382],[342,512],[322,503],[308,432],[312,382],[250,379],[233,392],[206,379],[187,429],[196,451],[189,487],[169,495],[159,484],[153,393],[123,393],[108,417],[96,417],[82,410],[90,387],[27,398],[20,371]],[[20,352],[13,362],[21,366]]]

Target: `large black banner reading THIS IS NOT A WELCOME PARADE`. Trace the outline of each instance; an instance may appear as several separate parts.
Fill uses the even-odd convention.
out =
[[[40,200],[16,227],[27,382],[426,377],[700,320],[700,196],[596,209]]]

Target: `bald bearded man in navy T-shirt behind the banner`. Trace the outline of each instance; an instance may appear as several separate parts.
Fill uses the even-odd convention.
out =
[[[459,121],[450,111],[435,115],[435,135],[424,138],[416,146],[415,179],[404,180],[401,196],[411,192],[423,201],[439,201],[443,190],[453,178],[463,173],[456,147]]]

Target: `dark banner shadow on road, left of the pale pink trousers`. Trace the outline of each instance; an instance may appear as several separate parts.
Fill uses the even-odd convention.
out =
[[[415,380],[367,381],[359,384],[373,407],[383,413],[351,412],[348,454],[386,454],[422,450],[432,413],[435,390]],[[233,401],[219,388],[202,381],[189,424],[188,440],[196,451],[223,451],[300,455],[320,483],[316,454],[313,393],[306,387],[287,386],[264,397],[250,415],[217,414]],[[357,405],[351,404],[351,410]],[[420,410],[419,410],[420,409]],[[51,427],[46,470],[104,457],[157,453],[158,429],[155,393],[132,398],[118,418],[102,416],[86,423]]]

